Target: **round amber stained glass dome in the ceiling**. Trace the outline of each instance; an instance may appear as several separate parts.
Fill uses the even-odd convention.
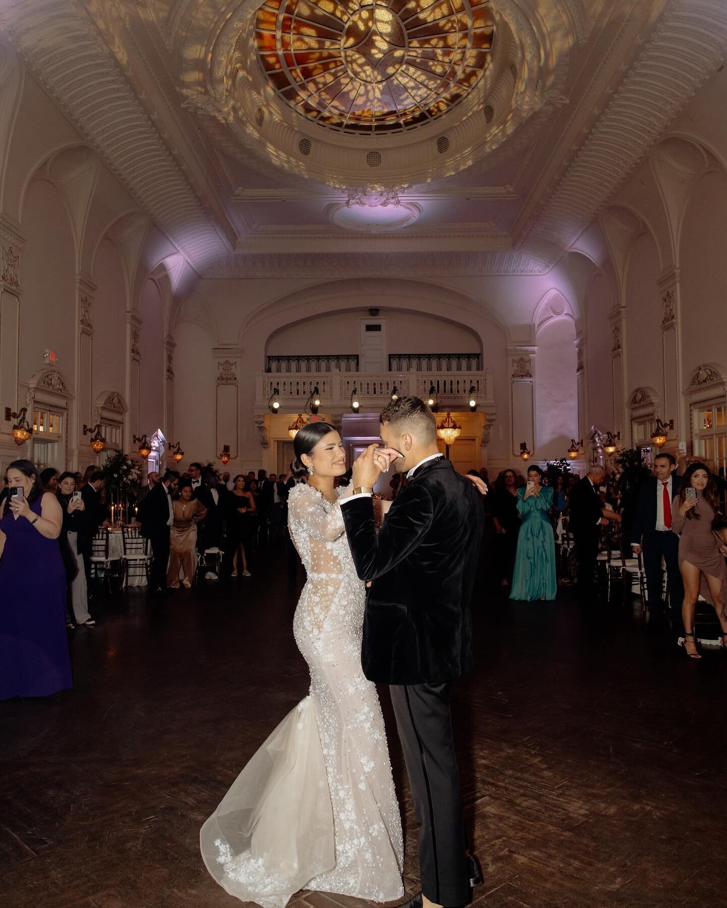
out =
[[[265,0],[257,54],[276,92],[343,133],[415,129],[472,92],[490,63],[490,0]]]

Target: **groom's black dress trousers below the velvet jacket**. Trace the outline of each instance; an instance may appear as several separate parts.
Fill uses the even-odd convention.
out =
[[[448,688],[390,690],[419,824],[422,892],[435,904],[456,908],[470,901],[470,874]]]

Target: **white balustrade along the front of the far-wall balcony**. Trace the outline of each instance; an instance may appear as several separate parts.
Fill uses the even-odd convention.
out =
[[[439,410],[468,410],[470,388],[476,391],[477,405],[483,410],[494,407],[493,370],[452,372],[319,372],[301,376],[294,373],[257,375],[255,409],[267,411],[268,400],[277,390],[281,413],[302,413],[306,401],[317,388],[321,412],[350,412],[354,390],[360,410],[383,410],[392,398],[394,387],[400,397],[427,400],[434,387]]]

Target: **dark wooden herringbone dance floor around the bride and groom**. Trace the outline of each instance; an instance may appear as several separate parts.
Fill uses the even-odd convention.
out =
[[[239,904],[204,869],[199,827],[307,689],[284,552],[251,569],[234,587],[106,599],[73,636],[73,692],[0,703],[4,908]],[[727,905],[727,659],[689,662],[628,612],[584,620],[567,591],[480,591],[475,639],[476,670],[453,689],[474,903]]]

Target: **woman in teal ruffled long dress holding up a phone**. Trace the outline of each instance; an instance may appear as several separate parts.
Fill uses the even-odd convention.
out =
[[[528,484],[517,490],[517,510],[523,518],[517,540],[511,599],[554,599],[555,538],[548,511],[553,508],[553,489],[543,486],[543,470],[528,468]]]

